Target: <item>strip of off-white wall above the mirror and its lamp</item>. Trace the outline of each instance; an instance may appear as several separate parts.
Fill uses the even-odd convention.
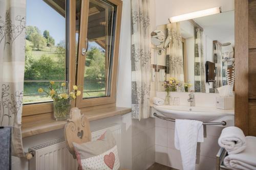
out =
[[[156,3],[156,25],[169,23],[168,18],[208,8],[220,7],[222,11],[234,9],[234,0],[158,0]]]

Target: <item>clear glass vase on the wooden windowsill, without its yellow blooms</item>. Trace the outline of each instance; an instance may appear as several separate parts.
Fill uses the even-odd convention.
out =
[[[56,120],[67,120],[71,109],[70,99],[53,101],[53,114]]]

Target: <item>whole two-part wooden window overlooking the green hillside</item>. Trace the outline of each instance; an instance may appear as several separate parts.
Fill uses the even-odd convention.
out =
[[[38,93],[49,81],[77,84],[73,106],[115,103],[122,2],[28,0],[23,116],[53,112]]]

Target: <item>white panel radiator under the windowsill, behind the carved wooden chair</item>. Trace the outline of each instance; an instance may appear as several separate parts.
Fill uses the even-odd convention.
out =
[[[92,132],[92,141],[99,138],[106,130],[110,130],[116,139],[121,165],[121,126],[111,127]],[[56,139],[29,148],[34,157],[29,161],[29,170],[73,170],[77,169],[76,159],[69,153],[65,139]]]

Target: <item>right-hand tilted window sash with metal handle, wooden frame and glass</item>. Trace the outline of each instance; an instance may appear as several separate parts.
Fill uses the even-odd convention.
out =
[[[77,85],[82,95],[76,106],[115,103],[121,1],[81,0],[79,6]]]

